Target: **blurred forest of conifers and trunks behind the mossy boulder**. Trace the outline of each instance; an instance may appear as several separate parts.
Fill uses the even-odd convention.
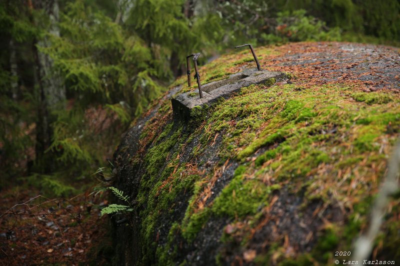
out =
[[[67,196],[110,176],[120,135],[187,54],[308,40],[398,46],[400,2],[0,0],[0,191]]]

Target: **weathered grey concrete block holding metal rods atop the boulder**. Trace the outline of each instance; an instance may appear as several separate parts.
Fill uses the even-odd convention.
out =
[[[248,68],[234,73],[225,79],[213,81],[201,86],[203,97],[197,91],[188,91],[178,94],[171,99],[173,116],[181,120],[191,119],[191,110],[196,106],[203,106],[215,102],[219,97],[227,98],[232,93],[251,84],[273,85],[277,80],[283,80],[286,74],[257,68]]]

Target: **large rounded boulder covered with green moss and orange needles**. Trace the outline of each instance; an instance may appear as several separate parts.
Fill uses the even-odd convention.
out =
[[[256,52],[263,69],[290,74],[192,106],[186,121],[170,102],[196,91],[181,77],[123,137],[114,185],[135,210],[115,225],[117,265],[348,259],[335,252],[351,251],[364,229],[400,131],[398,50],[296,43]],[[246,55],[201,68],[204,87],[243,71]],[[400,260],[398,203],[376,258]]]

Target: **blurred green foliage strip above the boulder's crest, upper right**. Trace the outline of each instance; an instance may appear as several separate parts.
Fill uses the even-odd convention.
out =
[[[209,0],[206,3],[210,12],[216,10],[220,14],[226,40],[231,43],[281,42],[282,25],[298,33],[295,38],[283,41],[329,40],[338,35],[338,28],[345,33],[344,40],[395,45],[400,40],[398,0]],[[310,35],[308,30],[321,34]]]

